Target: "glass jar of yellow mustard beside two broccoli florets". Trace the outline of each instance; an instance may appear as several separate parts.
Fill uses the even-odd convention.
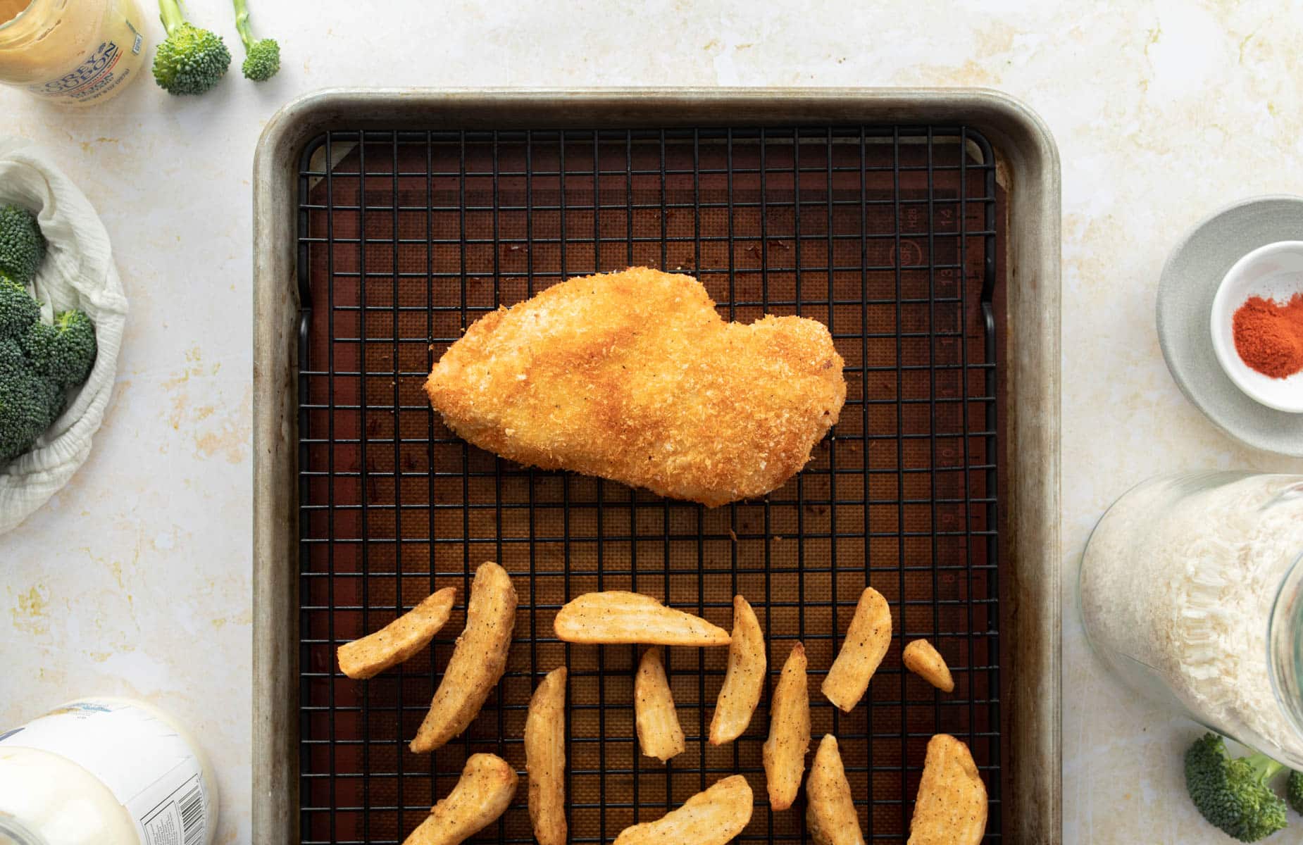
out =
[[[0,0],[0,82],[93,105],[145,73],[136,0]]]

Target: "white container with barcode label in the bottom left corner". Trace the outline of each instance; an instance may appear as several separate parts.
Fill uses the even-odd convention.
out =
[[[212,769],[155,707],[82,698],[0,733],[0,845],[211,845]]]

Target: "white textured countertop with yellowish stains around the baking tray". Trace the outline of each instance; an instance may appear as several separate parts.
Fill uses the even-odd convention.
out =
[[[1238,197],[1303,193],[1303,9],[512,5],[254,0],[255,29],[284,51],[271,83],[233,72],[173,99],[142,82],[85,113],[0,91],[0,133],[46,145],[86,191],[132,299],[90,461],[0,538],[0,725],[78,694],[154,700],[212,755],[218,841],[250,838],[250,169],[281,103],[341,85],[992,86],[1045,117],[1063,160],[1065,841],[1229,841],[1183,794],[1192,727],[1134,700],[1089,655],[1075,572],[1095,519],[1148,475],[1303,471],[1190,406],[1153,328],[1158,270],[1187,227]],[[189,7],[235,44],[227,3]]]

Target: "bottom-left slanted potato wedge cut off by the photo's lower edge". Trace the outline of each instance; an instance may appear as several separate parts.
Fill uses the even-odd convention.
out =
[[[403,845],[457,845],[503,814],[516,794],[516,769],[494,754],[472,754],[457,785]]]

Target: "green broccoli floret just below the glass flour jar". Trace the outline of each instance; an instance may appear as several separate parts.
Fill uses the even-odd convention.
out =
[[[1283,768],[1263,754],[1231,758],[1222,738],[1207,733],[1186,751],[1186,789],[1209,823],[1256,842],[1287,824],[1285,801],[1268,786]]]

